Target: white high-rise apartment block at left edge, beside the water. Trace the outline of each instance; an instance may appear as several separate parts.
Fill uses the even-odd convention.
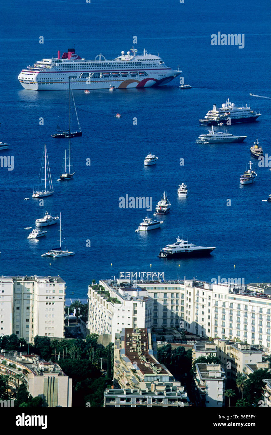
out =
[[[64,337],[65,282],[58,277],[0,277],[0,336]]]

